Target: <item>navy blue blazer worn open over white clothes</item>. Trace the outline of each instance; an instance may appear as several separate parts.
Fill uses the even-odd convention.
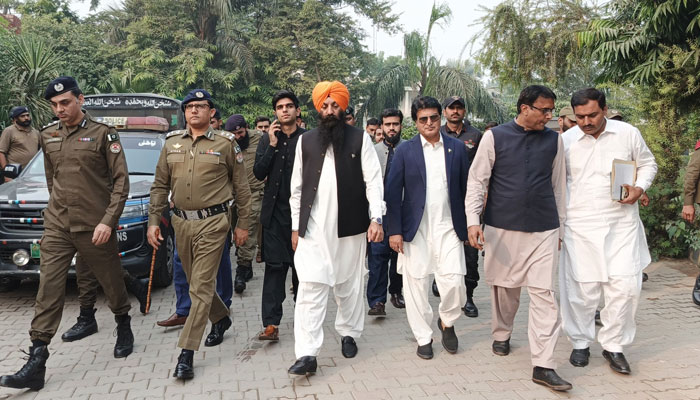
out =
[[[449,190],[452,224],[460,240],[468,240],[464,198],[471,161],[467,148],[459,140],[442,135],[445,171]],[[391,235],[403,235],[410,242],[416,236],[425,209],[425,158],[420,135],[396,149],[384,187],[385,229]]]

